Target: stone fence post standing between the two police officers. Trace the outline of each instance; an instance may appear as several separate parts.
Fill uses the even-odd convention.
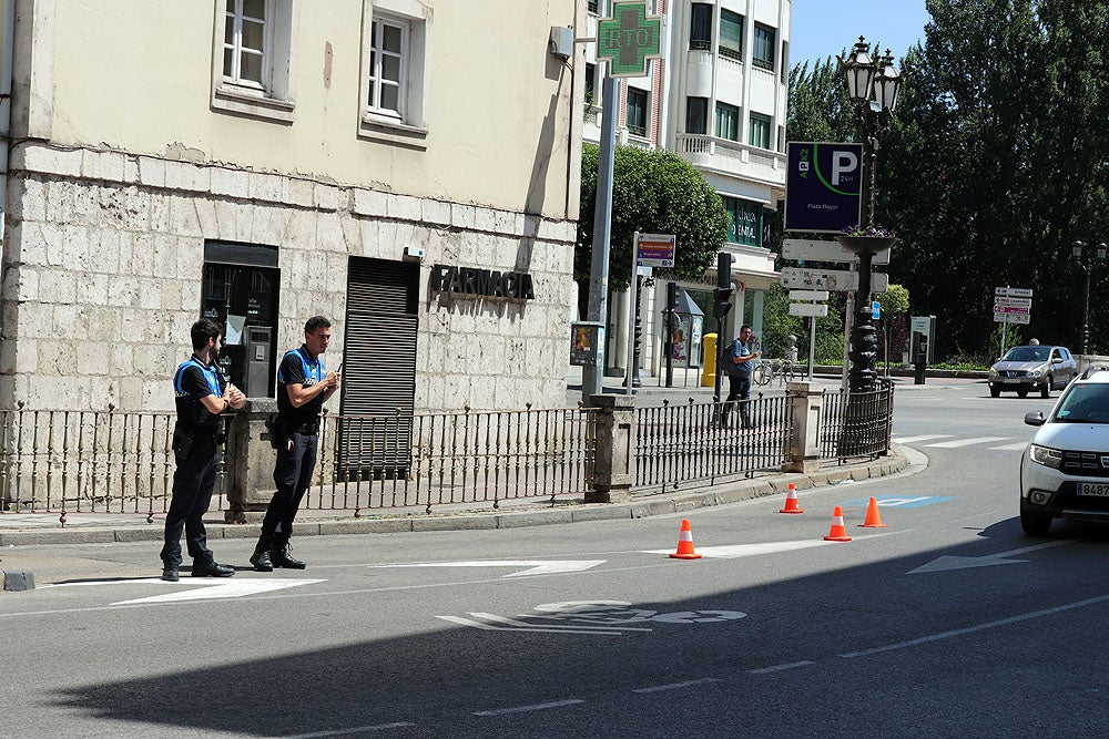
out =
[[[235,413],[227,434],[227,523],[262,520],[274,491],[274,461],[266,420],[277,414],[273,398],[252,398]]]

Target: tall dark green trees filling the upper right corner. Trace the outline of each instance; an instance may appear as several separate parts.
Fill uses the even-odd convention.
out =
[[[937,316],[946,357],[991,353],[999,285],[1034,289],[1031,335],[1075,343],[1069,245],[1109,227],[1109,0],[927,8],[878,164],[878,219],[899,236],[891,270]],[[1091,300],[1093,348],[1109,343],[1107,306]]]

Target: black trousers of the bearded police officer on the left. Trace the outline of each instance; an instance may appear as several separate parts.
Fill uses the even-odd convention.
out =
[[[177,461],[173,473],[173,497],[165,514],[162,563],[166,567],[181,565],[181,530],[194,561],[212,562],[203,516],[212,503],[215,490],[215,437],[197,437],[189,458]]]

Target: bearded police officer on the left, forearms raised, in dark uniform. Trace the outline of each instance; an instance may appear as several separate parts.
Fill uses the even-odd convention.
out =
[[[216,435],[220,414],[228,408],[242,408],[246,396],[224,382],[215,363],[223,346],[223,328],[202,318],[192,328],[193,356],[177,367],[173,392],[177,421],[173,427],[173,499],[165,515],[165,544],[162,546],[162,579],[176,582],[181,566],[181,531],[185,531],[193,577],[230,577],[234,567],[217,564],[207,547],[202,516],[207,512],[215,489]]]

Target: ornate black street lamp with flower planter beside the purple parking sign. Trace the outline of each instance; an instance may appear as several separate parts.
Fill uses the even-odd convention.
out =
[[[858,290],[855,292],[856,318],[851,332],[851,369],[847,387],[852,393],[871,392],[877,380],[877,332],[871,319],[871,263],[875,254],[889,248],[894,237],[874,227],[874,203],[877,189],[876,173],[878,144],[889,132],[889,122],[897,106],[902,74],[894,66],[894,58],[886,50],[874,60],[869,44],[858,37],[851,54],[840,59],[840,66],[847,81],[847,94],[855,104],[859,130],[863,133],[863,166],[867,208],[857,235],[838,236],[838,242],[858,257]]]

